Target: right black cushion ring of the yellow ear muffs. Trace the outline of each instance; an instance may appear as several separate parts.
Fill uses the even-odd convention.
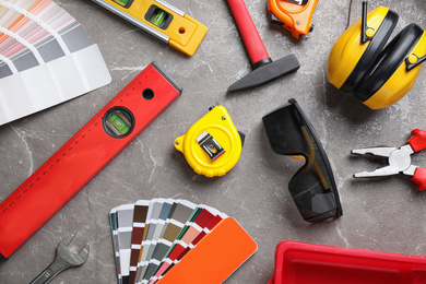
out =
[[[418,25],[410,24],[389,43],[355,86],[354,93],[360,100],[367,100],[386,84],[397,69],[404,63],[423,32]]]

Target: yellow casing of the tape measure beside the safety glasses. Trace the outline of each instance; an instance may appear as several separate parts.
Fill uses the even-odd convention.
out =
[[[225,153],[214,161],[197,142],[197,138],[204,131],[210,133],[225,150]],[[175,140],[175,147],[184,153],[188,164],[197,174],[205,177],[221,177],[237,164],[241,155],[242,143],[225,107],[215,106],[192,125],[185,135]]]

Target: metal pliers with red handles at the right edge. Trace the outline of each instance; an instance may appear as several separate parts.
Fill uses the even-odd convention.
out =
[[[371,154],[374,156],[388,157],[389,166],[378,168],[372,171],[362,171],[355,174],[354,177],[383,177],[398,174],[412,176],[412,181],[417,185],[417,189],[423,191],[426,189],[426,168],[417,167],[411,164],[411,154],[426,149],[426,131],[414,129],[411,132],[411,138],[406,145],[401,147],[368,147],[352,150],[352,154],[364,155]]]

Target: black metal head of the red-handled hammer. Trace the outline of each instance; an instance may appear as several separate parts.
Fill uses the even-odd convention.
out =
[[[295,55],[261,66],[228,87],[228,93],[263,85],[279,76],[297,71],[300,64]]]

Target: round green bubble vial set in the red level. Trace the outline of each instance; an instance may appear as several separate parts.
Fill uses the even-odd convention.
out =
[[[103,127],[108,135],[125,138],[133,130],[134,116],[126,107],[113,107],[105,113]]]

